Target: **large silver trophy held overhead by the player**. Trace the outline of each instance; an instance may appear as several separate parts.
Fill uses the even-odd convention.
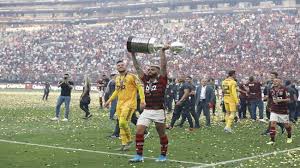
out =
[[[127,40],[127,50],[136,53],[155,53],[164,47],[156,38],[142,38],[130,36]],[[184,44],[180,42],[173,42],[170,45],[170,50],[177,54],[184,50]]]

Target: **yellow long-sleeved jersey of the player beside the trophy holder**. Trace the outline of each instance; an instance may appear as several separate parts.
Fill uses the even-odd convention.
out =
[[[141,81],[132,74],[118,75],[116,77],[116,88],[109,102],[118,98],[118,107],[136,108],[137,106],[137,91],[139,92],[141,102],[145,102],[145,94]]]

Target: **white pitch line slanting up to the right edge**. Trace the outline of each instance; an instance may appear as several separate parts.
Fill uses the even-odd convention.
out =
[[[255,156],[249,156],[249,157],[240,158],[240,159],[227,160],[227,161],[223,161],[223,162],[200,165],[200,166],[195,166],[195,167],[192,167],[192,168],[214,167],[214,166],[218,166],[218,165],[225,165],[225,164],[229,164],[229,163],[235,163],[235,162],[241,162],[241,161],[245,161],[245,160],[255,159],[255,158],[258,158],[258,157],[266,157],[266,156],[270,156],[270,155],[276,155],[276,154],[292,152],[292,151],[298,151],[298,150],[300,150],[300,147],[292,148],[292,149],[286,149],[286,150],[282,150],[282,151],[274,151],[274,152],[269,152],[269,153],[265,153],[265,154],[255,155]]]

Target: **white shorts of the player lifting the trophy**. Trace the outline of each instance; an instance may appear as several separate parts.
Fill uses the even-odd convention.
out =
[[[147,110],[145,109],[140,115],[136,125],[144,125],[149,127],[151,122],[165,123],[165,111],[164,110]]]

